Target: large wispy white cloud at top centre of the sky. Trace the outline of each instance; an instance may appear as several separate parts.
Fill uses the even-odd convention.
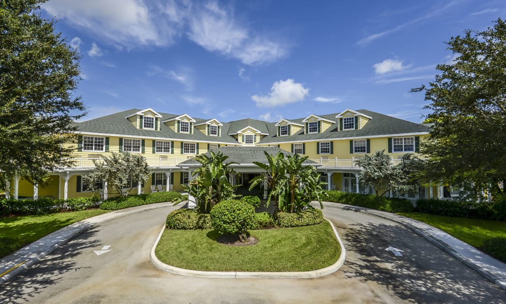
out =
[[[216,2],[205,5],[189,19],[188,37],[211,52],[239,59],[247,65],[275,61],[287,53],[287,47],[266,36],[253,33],[237,21],[232,12]]]

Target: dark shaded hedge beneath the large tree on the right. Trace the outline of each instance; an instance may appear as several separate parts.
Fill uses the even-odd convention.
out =
[[[454,200],[420,199],[416,201],[415,211],[489,220],[506,220],[506,202],[460,202]]]

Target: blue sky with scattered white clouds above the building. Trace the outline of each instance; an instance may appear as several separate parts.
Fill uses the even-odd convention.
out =
[[[422,122],[445,41],[504,1],[50,0],[82,54],[83,120],[130,108],[270,122],[368,109]]]

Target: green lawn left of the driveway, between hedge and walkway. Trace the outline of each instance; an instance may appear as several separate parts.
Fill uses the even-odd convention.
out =
[[[72,223],[110,211],[92,209],[47,215],[0,217],[0,257]]]

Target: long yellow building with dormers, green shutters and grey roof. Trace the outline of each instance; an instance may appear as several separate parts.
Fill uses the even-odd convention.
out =
[[[235,161],[238,173],[231,182],[249,187],[260,173],[253,161],[265,161],[264,151],[275,154],[309,156],[308,164],[317,166],[328,189],[352,193],[372,193],[359,182],[361,168],[355,161],[376,150],[388,151],[393,163],[406,153],[418,153],[419,143],[429,136],[429,128],[369,110],[346,109],[328,115],[310,115],[300,119],[282,119],[268,123],[254,119],[220,122],[199,119],[188,114],[174,115],[148,109],[130,109],[77,123],[75,165],[51,172],[48,182],[37,186],[23,177],[8,182],[13,198],[52,197],[67,199],[91,196],[83,176],[95,170],[95,161],[111,152],[128,151],[144,156],[151,177],[135,185],[132,194],[153,191],[183,191],[192,178],[197,162],[192,159],[210,150],[222,150]],[[98,185],[107,193],[106,185]],[[410,199],[443,198],[443,187],[421,187]]]

